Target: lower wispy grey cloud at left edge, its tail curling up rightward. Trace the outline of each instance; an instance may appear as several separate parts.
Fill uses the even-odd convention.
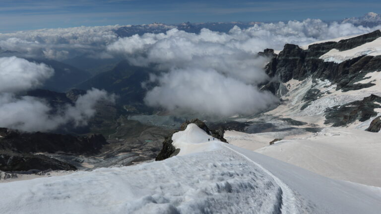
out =
[[[0,93],[0,127],[35,132],[55,130],[67,123],[85,126],[96,112],[95,105],[102,100],[113,102],[114,97],[104,90],[92,89],[73,106],[65,105],[59,113],[51,115],[52,108],[44,100]]]

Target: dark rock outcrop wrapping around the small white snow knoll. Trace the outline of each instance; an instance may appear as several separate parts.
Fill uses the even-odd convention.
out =
[[[175,148],[175,146],[172,145],[172,136],[173,134],[184,131],[187,129],[187,126],[191,123],[196,124],[200,129],[206,132],[206,134],[211,135],[213,138],[218,139],[221,142],[227,143],[227,141],[224,139],[224,129],[221,127],[217,130],[209,130],[209,128],[206,126],[206,124],[199,119],[193,119],[190,121],[185,121],[181,126],[179,131],[173,132],[171,135],[165,138],[163,142],[163,148],[161,149],[160,153],[156,157],[156,161],[158,160],[164,160],[169,157],[175,156],[180,152],[179,148]]]

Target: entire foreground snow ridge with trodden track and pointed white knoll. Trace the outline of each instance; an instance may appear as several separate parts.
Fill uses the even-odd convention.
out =
[[[380,188],[321,177],[212,141],[190,124],[173,136],[180,155],[0,184],[2,214],[379,213]]]

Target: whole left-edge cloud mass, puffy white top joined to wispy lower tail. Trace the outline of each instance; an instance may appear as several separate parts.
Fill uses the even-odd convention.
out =
[[[52,115],[52,108],[45,100],[17,95],[16,92],[39,86],[53,72],[44,64],[16,57],[0,58],[0,127],[32,132],[55,130],[67,123],[84,126],[94,116],[99,101],[114,102],[113,95],[92,89],[79,96],[74,105],[62,106]]]

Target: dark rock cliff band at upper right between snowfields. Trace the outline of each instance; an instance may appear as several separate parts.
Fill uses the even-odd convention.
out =
[[[337,84],[337,90],[347,91],[371,87],[374,83],[355,84],[355,82],[363,79],[367,72],[380,71],[381,56],[361,56],[339,64],[324,62],[319,57],[332,49],[350,50],[379,37],[381,32],[377,30],[339,42],[313,44],[308,50],[303,50],[297,45],[286,44],[277,56],[272,57],[265,71],[270,77],[277,77],[280,82],[287,82],[290,79],[304,80],[311,76],[315,79],[330,80]],[[265,53],[268,51],[262,52],[261,55],[271,56]],[[262,86],[262,90],[269,90],[274,94],[278,89],[279,85],[273,80]]]

